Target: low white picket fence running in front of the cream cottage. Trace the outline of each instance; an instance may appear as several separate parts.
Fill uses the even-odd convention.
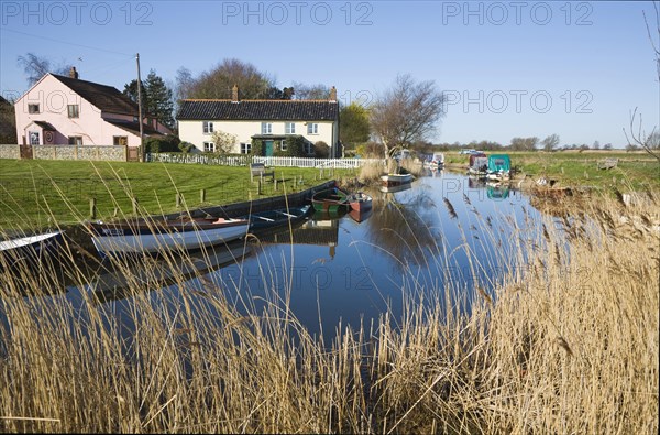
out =
[[[263,163],[279,167],[356,168],[369,163],[385,164],[381,159],[309,159],[309,157],[265,157],[252,155],[210,155],[184,153],[147,154],[147,162],[191,163],[226,166],[248,166],[250,163]]]

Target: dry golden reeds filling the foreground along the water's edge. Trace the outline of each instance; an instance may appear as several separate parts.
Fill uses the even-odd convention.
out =
[[[0,274],[0,431],[658,433],[660,203],[588,204],[531,236],[512,228],[516,251],[494,260],[525,267],[493,292],[408,276],[403,314],[327,341],[267,263],[256,301],[201,272],[170,276],[173,297],[113,260],[132,296],[118,305],[62,295],[42,278],[59,263],[14,264]],[[64,283],[85,287],[70,249]]]

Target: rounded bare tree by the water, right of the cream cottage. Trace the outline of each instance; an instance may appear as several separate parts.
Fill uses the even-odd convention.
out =
[[[410,75],[396,77],[394,86],[371,108],[372,132],[385,148],[385,157],[425,140],[444,115],[444,96],[432,80],[416,83]]]

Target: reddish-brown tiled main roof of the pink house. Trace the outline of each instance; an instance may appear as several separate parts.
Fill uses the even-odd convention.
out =
[[[98,83],[80,80],[79,78],[70,78],[57,74],[52,74],[52,76],[102,111],[138,116],[138,104],[133,102],[129,97],[112,86],[100,85]]]

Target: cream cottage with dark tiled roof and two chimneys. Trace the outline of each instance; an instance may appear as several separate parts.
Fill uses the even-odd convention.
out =
[[[324,142],[331,157],[340,156],[339,104],[332,87],[328,100],[241,100],[234,86],[232,99],[182,100],[176,117],[179,138],[200,152],[215,152],[215,132],[235,138],[230,152],[249,154],[254,141],[263,143],[264,155],[286,151],[286,139],[305,139],[305,152]]]

